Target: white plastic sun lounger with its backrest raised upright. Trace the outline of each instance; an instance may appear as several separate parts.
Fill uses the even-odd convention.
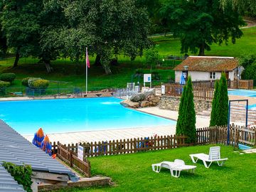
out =
[[[208,154],[190,154],[189,156],[191,156],[191,159],[194,164],[196,164],[198,159],[202,160],[206,168],[209,168],[214,161],[217,161],[218,166],[223,166],[224,161],[228,160],[228,158],[224,158],[224,159],[220,158],[220,146],[210,147],[209,155]],[[209,162],[209,164],[207,164],[207,162]]]

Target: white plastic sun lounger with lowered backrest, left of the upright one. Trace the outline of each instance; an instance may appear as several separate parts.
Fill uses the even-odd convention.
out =
[[[178,178],[181,174],[181,171],[192,171],[194,173],[196,166],[186,165],[183,160],[175,159],[174,162],[171,161],[162,161],[159,164],[152,164],[152,170],[156,173],[161,171],[161,168],[170,169],[171,176]]]

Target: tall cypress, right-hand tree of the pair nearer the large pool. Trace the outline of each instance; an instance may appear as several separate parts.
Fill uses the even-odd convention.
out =
[[[193,102],[193,85],[191,76],[188,76],[188,81],[186,82],[186,95],[183,101],[183,124],[182,130],[184,135],[188,137],[186,143],[196,142],[196,111]]]

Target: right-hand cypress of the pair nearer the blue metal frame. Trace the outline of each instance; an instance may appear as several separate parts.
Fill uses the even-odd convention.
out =
[[[215,109],[216,114],[218,114],[215,118],[215,125],[228,124],[228,85],[225,73],[221,74]]]

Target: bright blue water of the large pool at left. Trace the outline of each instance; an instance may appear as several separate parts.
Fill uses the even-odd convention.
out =
[[[0,119],[20,134],[82,132],[176,124],[175,121],[130,110],[114,97],[0,102]]]

